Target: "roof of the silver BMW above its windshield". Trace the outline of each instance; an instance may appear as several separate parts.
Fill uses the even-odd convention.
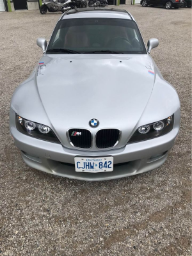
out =
[[[134,20],[129,12],[114,8],[76,8],[65,12],[60,20],[96,17]]]

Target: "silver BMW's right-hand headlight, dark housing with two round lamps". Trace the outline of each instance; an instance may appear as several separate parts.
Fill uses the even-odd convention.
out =
[[[128,144],[162,136],[172,131],[173,124],[174,115],[152,124],[142,125],[134,132],[131,139],[128,141]]]

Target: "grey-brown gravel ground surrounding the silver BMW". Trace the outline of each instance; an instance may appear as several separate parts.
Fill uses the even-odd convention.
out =
[[[161,168],[105,182],[26,166],[8,129],[10,99],[42,55],[36,38],[49,39],[60,14],[0,13],[0,255],[191,255],[191,10],[121,8],[146,44],[159,39],[152,56],[182,108],[175,146]]]

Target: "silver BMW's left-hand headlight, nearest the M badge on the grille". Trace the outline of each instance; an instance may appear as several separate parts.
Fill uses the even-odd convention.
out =
[[[60,143],[54,132],[47,125],[38,124],[26,120],[17,114],[15,115],[15,123],[17,130],[22,132],[23,134],[29,135],[40,140]]]

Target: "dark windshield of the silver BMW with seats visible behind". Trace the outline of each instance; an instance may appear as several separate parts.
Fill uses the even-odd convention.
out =
[[[147,54],[136,22],[127,19],[60,20],[47,54]]]

